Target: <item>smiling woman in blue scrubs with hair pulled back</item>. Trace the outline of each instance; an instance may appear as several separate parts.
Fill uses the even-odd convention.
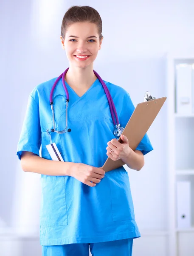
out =
[[[153,148],[147,135],[132,151],[127,138],[121,136],[121,144],[113,134],[110,102],[93,71],[101,33],[101,17],[95,9],[71,7],[63,17],[60,37],[69,69],[59,77],[53,95],[57,78],[39,84],[29,96],[17,155],[25,172],[41,174],[40,244],[44,256],[87,256],[89,247],[94,256],[129,256],[133,239],[140,237],[128,173],[123,166],[106,173],[100,167],[108,156],[140,170],[144,155]],[[134,105],[122,87],[104,83],[124,128]],[[71,131],[57,133],[65,129],[67,120]],[[49,153],[54,152],[52,143],[59,150],[58,161]]]

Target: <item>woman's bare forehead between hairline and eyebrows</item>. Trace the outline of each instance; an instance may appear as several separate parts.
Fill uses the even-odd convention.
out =
[[[91,35],[98,36],[98,29],[95,23],[76,22],[67,27],[66,36],[75,35],[84,38]]]

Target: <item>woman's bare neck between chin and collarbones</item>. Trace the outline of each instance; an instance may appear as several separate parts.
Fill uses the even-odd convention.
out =
[[[85,68],[70,66],[65,80],[72,87],[88,89],[97,79],[93,72],[93,65]]]

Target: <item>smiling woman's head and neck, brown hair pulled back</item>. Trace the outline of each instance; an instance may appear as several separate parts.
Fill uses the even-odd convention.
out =
[[[93,62],[103,40],[99,13],[89,6],[73,6],[63,17],[60,39],[70,63],[65,80],[74,90],[88,90],[97,79]]]

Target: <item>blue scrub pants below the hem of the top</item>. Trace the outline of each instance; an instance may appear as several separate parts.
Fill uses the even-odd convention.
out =
[[[133,239],[94,244],[64,244],[42,246],[42,256],[132,256]]]

